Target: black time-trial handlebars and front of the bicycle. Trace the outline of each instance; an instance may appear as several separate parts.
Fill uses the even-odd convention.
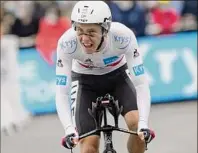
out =
[[[101,100],[100,101],[99,107],[96,110],[97,111],[96,112],[96,114],[97,114],[96,117],[94,117],[92,115],[92,117],[95,120],[96,129],[91,131],[91,132],[88,132],[84,135],[81,135],[80,139],[85,138],[89,135],[92,135],[95,132],[103,132],[104,142],[105,142],[105,149],[104,149],[103,153],[116,153],[116,150],[114,149],[113,142],[112,142],[112,132],[113,131],[120,131],[120,132],[133,134],[133,135],[137,135],[137,132],[126,130],[126,129],[121,129],[121,128],[118,127],[118,118],[119,118],[120,114],[118,114],[117,116],[113,115],[115,126],[108,125],[107,124],[107,110],[109,110],[109,108],[113,109],[112,103],[110,103],[110,100],[105,100],[105,101]],[[88,111],[90,113],[90,110],[88,110]],[[103,115],[103,120],[104,120],[104,125],[102,127],[100,126],[100,123],[101,123],[101,120],[102,120],[102,118],[100,118],[101,114]]]

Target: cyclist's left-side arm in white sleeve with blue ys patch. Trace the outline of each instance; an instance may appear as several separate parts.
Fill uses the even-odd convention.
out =
[[[59,61],[58,64],[58,60]],[[70,109],[70,84],[71,84],[72,59],[66,53],[66,48],[61,48],[61,41],[57,47],[56,64],[56,109],[65,132],[72,127]]]

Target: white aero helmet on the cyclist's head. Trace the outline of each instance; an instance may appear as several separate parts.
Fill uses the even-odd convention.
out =
[[[74,24],[98,23],[108,31],[112,16],[109,6],[103,1],[79,1],[72,10],[71,20]]]

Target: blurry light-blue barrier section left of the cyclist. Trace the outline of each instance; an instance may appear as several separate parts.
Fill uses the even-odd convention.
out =
[[[32,114],[55,112],[55,65],[35,49],[20,50],[21,98]]]

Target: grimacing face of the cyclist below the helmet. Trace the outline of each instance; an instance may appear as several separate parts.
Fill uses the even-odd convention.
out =
[[[96,24],[77,24],[78,39],[86,53],[96,52],[102,38],[102,28]]]

